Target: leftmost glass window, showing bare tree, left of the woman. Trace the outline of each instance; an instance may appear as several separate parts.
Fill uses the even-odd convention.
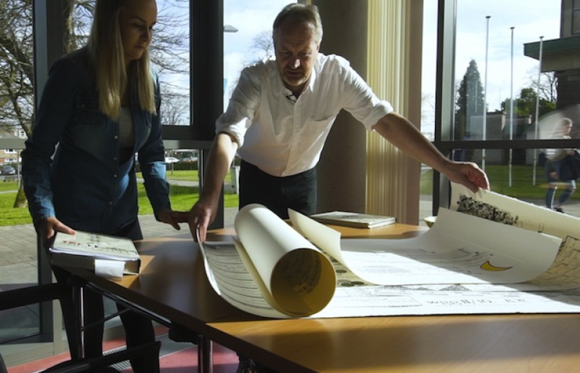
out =
[[[31,130],[34,108],[32,8],[30,1],[0,3],[0,184],[6,194],[0,205],[14,206],[20,173],[20,149]],[[3,224],[19,224],[28,211],[8,215]],[[31,246],[13,236],[0,244],[0,291],[38,283],[34,229],[29,229]],[[15,250],[19,247],[19,250]],[[30,250],[28,250],[30,248]],[[38,305],[0,312],[0,343],[40,333]]]

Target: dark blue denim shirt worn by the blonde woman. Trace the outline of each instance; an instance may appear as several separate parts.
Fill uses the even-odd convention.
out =
[[[131,94],[134,153],[153,210],[171,209],[160,123]],[[99,111],[86,49],[50,69],[32,135],[22,153],[23,186],[34,222],[56,216],[72,229],[114,233],[137,219],[135,157],[119,164],[119,123]],[[56,149],[56,152],[55,152]]]

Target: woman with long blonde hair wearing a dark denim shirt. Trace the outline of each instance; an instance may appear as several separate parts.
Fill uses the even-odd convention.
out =
[[[22,153],[24,189],[43,247],[57,231],[75,229],[142,238],[135,154],[155,218],[175,229],[186,219],[171,209],[165,180],[160,87],[148,54],[156,21],[155,0],[97,0],[87,46],[52,66]],[[52,269],[59,283],[68,280],[66,271]],[[98,294],[84,294],[89,325],[103,318],[104,306]],[[63,312],[70,330],[72,303]],[[121,319],[128,347],[155,340],[151,320],[134,312]],[[102,323],[86,330],[85,356],[102,354],[102,338]],[[131,365],[136,373],[158,372],[159,357]]]

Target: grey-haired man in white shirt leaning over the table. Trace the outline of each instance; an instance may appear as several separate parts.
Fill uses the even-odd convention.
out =
[[[316,164],[342,108],[453,182],[472,191],[489,189],[476,164],[448,160],[391,104],[378,99],[346,59],[318,52],[320,41],[316,6],[293,3],[276,17],[276,60],[242,71],[226,113],[216,122],[202,194],[189,215],[194,237],[199,228],[205,240],[236,151],[242,158],[240,207],[261,203],[281,218],[287,218],[287,208],[314,213]]]

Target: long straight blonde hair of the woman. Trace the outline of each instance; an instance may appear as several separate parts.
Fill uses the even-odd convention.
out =
[[[128,0],[97,0],[95,17],[86,48],[95,73],[99,108],[112,119],[121,112],[124,92],[137,89],[139,106],[152,114],[155,110],[155,87],[149,68],[149,51],[132,61],[128,70],[125,57],[119,11]],[[128,71],[128,73],[127,73]]]

